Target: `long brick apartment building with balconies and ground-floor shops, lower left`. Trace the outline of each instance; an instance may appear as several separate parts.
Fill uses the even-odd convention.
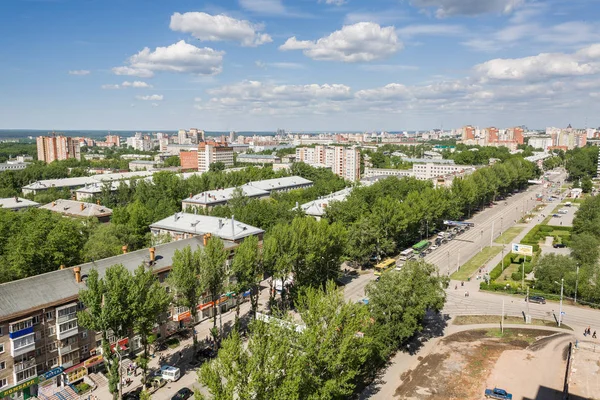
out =
[[[53,272],[0,284],[0,398],[49,395],[78,383],[103,361],[100,334],[79,326],[77,319],[77,312],[84,309],[78,295],[86,288],[92,269],[103,277],[116,264],[132,273],[145,265],[166,285],[175,251],[186,246],[203,248],[207,239],[193,237],[130,253],[125,247],[124,253],[116,257],[73,268],[60,266]],[[230,252],[237,247],[231,242],[224,245]],[[212,316],[211,301],[203,296],[198,320]],[[223,295],[218,304],[227,310],[235,306],[235,299]],[[190,323],[190,314],[189,310],[172,306],[155,332],[168,335]],[[137,335],[109,335],[109,341],[111,348],[119,346],[125,354],[141,350]]]

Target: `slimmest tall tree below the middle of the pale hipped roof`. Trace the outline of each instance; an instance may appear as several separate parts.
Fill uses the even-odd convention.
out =
[[[211,300],[213,302],[213,329],[217,326],[217,310],[221,314],[221,306],[217,307],[218,300],[221,298],[228,281],[225,260],[227,260],[228,251],[225,250],[223,241],[216,237],[210,237],[200,255],[200,275],[206,282]],[[219,337],[222,334],[219,331]]]

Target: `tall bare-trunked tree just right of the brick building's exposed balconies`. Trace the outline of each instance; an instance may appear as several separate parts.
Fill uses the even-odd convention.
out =
[[[144,347],[144,359],[141,363],[145,382],[148,368],[148,337],[159,322],[159,318],[167,312],[171,298],[164,287],[160,285],[151,269],[140,265],[133,275],[131,285],[131,312],[133,313],[133,328],[138,333]]]

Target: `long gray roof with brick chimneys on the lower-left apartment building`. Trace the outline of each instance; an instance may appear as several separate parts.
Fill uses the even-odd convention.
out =
[[[153,268],[160,270],[170,267],[175,250],[181,250],[188,245],[192,249],[203,247],[202,240],[202,237],[198,236],[156,246],[156,261]],[[233,243],[225,242],[226,249],[235,246]],[[90,271],[96,268],[102,277],[110,266],[116,264],[123,264],[125,268],[133,272],[139,265],[147,263],[149,260],[148,249],[133,251],[82,264],[80,265],[81,276],[85,279]],[[32,311],[64,303],[77,296],[82,289],[85,289],[85,284],[75,281],[72,268],[0,284],[0,321],[26,316]]]

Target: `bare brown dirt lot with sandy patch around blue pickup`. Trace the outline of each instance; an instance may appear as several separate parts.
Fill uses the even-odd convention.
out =
[[[407,371],[396,398],[482,399],[501,387],[519,400],[560,399],[570,335],[534,329],[472,330],[441,340],[415,370]]]

